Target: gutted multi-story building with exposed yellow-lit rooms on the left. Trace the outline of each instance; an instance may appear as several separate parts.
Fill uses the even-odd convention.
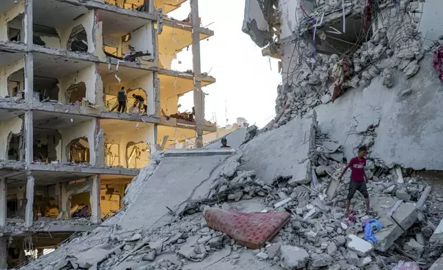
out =
[[[216,131],[202,92],[215,79],[199,60],[199,40],[213,31],[200,27],[197,0],[188,19],[168,17],[184,3],[1,1],[0,269],[8,249],[23,261],[30,233],[43,249],[118,211],[152,152],[195,136],[202,147],[202,135]],[[189,46],[193,70],[171,70]],[[118,113],[121,87],[128,104]],[[178,98],[191,91],[193,112],[180,114]],[[133,110],[133,94],[146,114]],[[74,222],[84,207],[91,218]]]

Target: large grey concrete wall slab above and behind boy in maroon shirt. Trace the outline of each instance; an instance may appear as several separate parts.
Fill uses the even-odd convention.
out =
[[[376,78],[369,87],[349,89],[334,103],[316,107],[322,132],[344,145],[348,160],[363,136],[357,134],[380,123],[373,156],[387,165],[413,169],[443,169],[443,83],[432,67],[432,56],[420,61],[420,71],[411,79],[393,74],[387,89]],[[402,96],[405,89],[411,94]]]

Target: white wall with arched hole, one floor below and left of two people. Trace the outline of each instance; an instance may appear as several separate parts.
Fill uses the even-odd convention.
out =
[[[76,138],[86,137],[89,143],[89,163],[91,165],[96,164],[96,119],[88,120],[83,123],[79,123],[77,125],[73,125],[71,127],[67,127],[65,129],[58,129],[58,132],[61,134],[61,147],[57,147],[57,157],[58,160],[61,160],[62,163],[68,162],[67,157],[69,153],[67,151],[67,145],[71,143],[72,140]]]

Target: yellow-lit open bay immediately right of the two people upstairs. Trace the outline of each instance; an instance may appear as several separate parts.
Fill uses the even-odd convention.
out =
[[[193,91],[193,74],[175,72],[172,70],[160,70],[160,123],[171,127],[184,127],[195,129],[195,112],[179,113],[178,98]],[[212,76],[202,77],[202,87],[215,83]],[[205,121],[204,129],[215,132],[217,127]]]

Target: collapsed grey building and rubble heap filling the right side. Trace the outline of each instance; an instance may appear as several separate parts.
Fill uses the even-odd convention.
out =
[[[118,213],[20,269],[442,269],[441,8],[247,0],[244,32],[281,59],[277,116],[230,149],[153,153]],[[373,213],[356,194],[345,216],[360,145]]]

